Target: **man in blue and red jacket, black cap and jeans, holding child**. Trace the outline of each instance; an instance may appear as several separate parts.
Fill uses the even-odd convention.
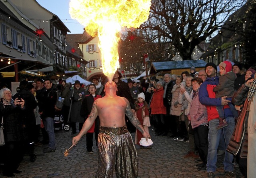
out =
[[[209,62],[205,66],[205,72],[207,74],[207,78],[200,86],[199,100],[201,104],[206,105],[209,122],[209,149],[206,170],[208,177],[214,178],[214,172],[217,168],[217,148],[220,142],[220,134],[222,134],[223,131],[224,140],[226,142],[225,145],[227,147],[235,127],[235,119],[228,106],[230,101],[226,100],[226,96],[222,98],[215,98],[213,88],[219,83],[219,77],[216,76],[217,66],[214,63]],[[220,105],[224,105],[225,120],[228,122],[228,126],[222,129],[217,129],[219,124],[219,114],[216,106]],[[229,152],[225,152],[224,155],[225,176],[235,178],[236,174],[234,173],[234,165],[232,164],[233,155]]]

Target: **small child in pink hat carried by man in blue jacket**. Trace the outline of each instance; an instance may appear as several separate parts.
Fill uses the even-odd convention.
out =
[[[236,74],[232,72],[232,64],[229,61],[224,61],[219,64],[220,67],[220,78],[219,78],[219,84],[214,87],[213,91],[216,93],[216,98],[221,98],[223,96],[226,96],[226,100],[232,99],[232,96],[236,92],[234,89],[234,80],[236,79]],[[230,102],[228,104],[230,110],[232,111],[232,114],[235,118],[238,117],[238,112],[235,109],[234,105]],[[217,106],[217,110],[220,116],[220,124],[217,127],[218,129],[221,129],[223,127],[226,127],[228,125],[228,122],[224,119],[224,106]]]

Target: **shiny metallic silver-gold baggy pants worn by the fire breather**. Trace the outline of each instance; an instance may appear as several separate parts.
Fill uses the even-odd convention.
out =
[[[99,162],[96,178],[136,178],[138,156],[127,127],[100,127],[98,135]]]

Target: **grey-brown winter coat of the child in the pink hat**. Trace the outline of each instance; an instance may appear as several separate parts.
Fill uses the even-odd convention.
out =
[[[219,84],[214,87],[213,91],[216,92],[216,98],[227,96],[232,98],[236,90],[234,89],[234,81],[236,74],[234,72],[228,72],[219,78]]]

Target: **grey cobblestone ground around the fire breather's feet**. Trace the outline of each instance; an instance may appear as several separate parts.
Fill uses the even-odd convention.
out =
[[[28,156],[20,164],[21,174],[16,178],[94,178],[98,166],[98,151],[93,147],[93,154],[86,150],[86,136],[80,140],[77,146],[72,148],[68,157],[64,157],[64,151],[72,145],[71,130],[56,130],[56,151],[43,153],[44,146],[36,146],[37,160],[30,162]],[[206,172],[200,172],[196,168],[194,158],[184,158],[188,152],[188,143],[175,141],[168,136],[154,136],[150,132],[154,142],[152,149],[140,149],[136,146],[139,157],[138,178],[205,178]],[[132,133],[134,138],[135,134]],[[134,139],[133,139],[134,140]],[[224,178],[223,159],[218,159],[216,178]],[[243,178],[240,171],[235,171],[238,178]],[[2,177],[2,173],[0,173]],[[114,174],[114,178],[116,178]]]

